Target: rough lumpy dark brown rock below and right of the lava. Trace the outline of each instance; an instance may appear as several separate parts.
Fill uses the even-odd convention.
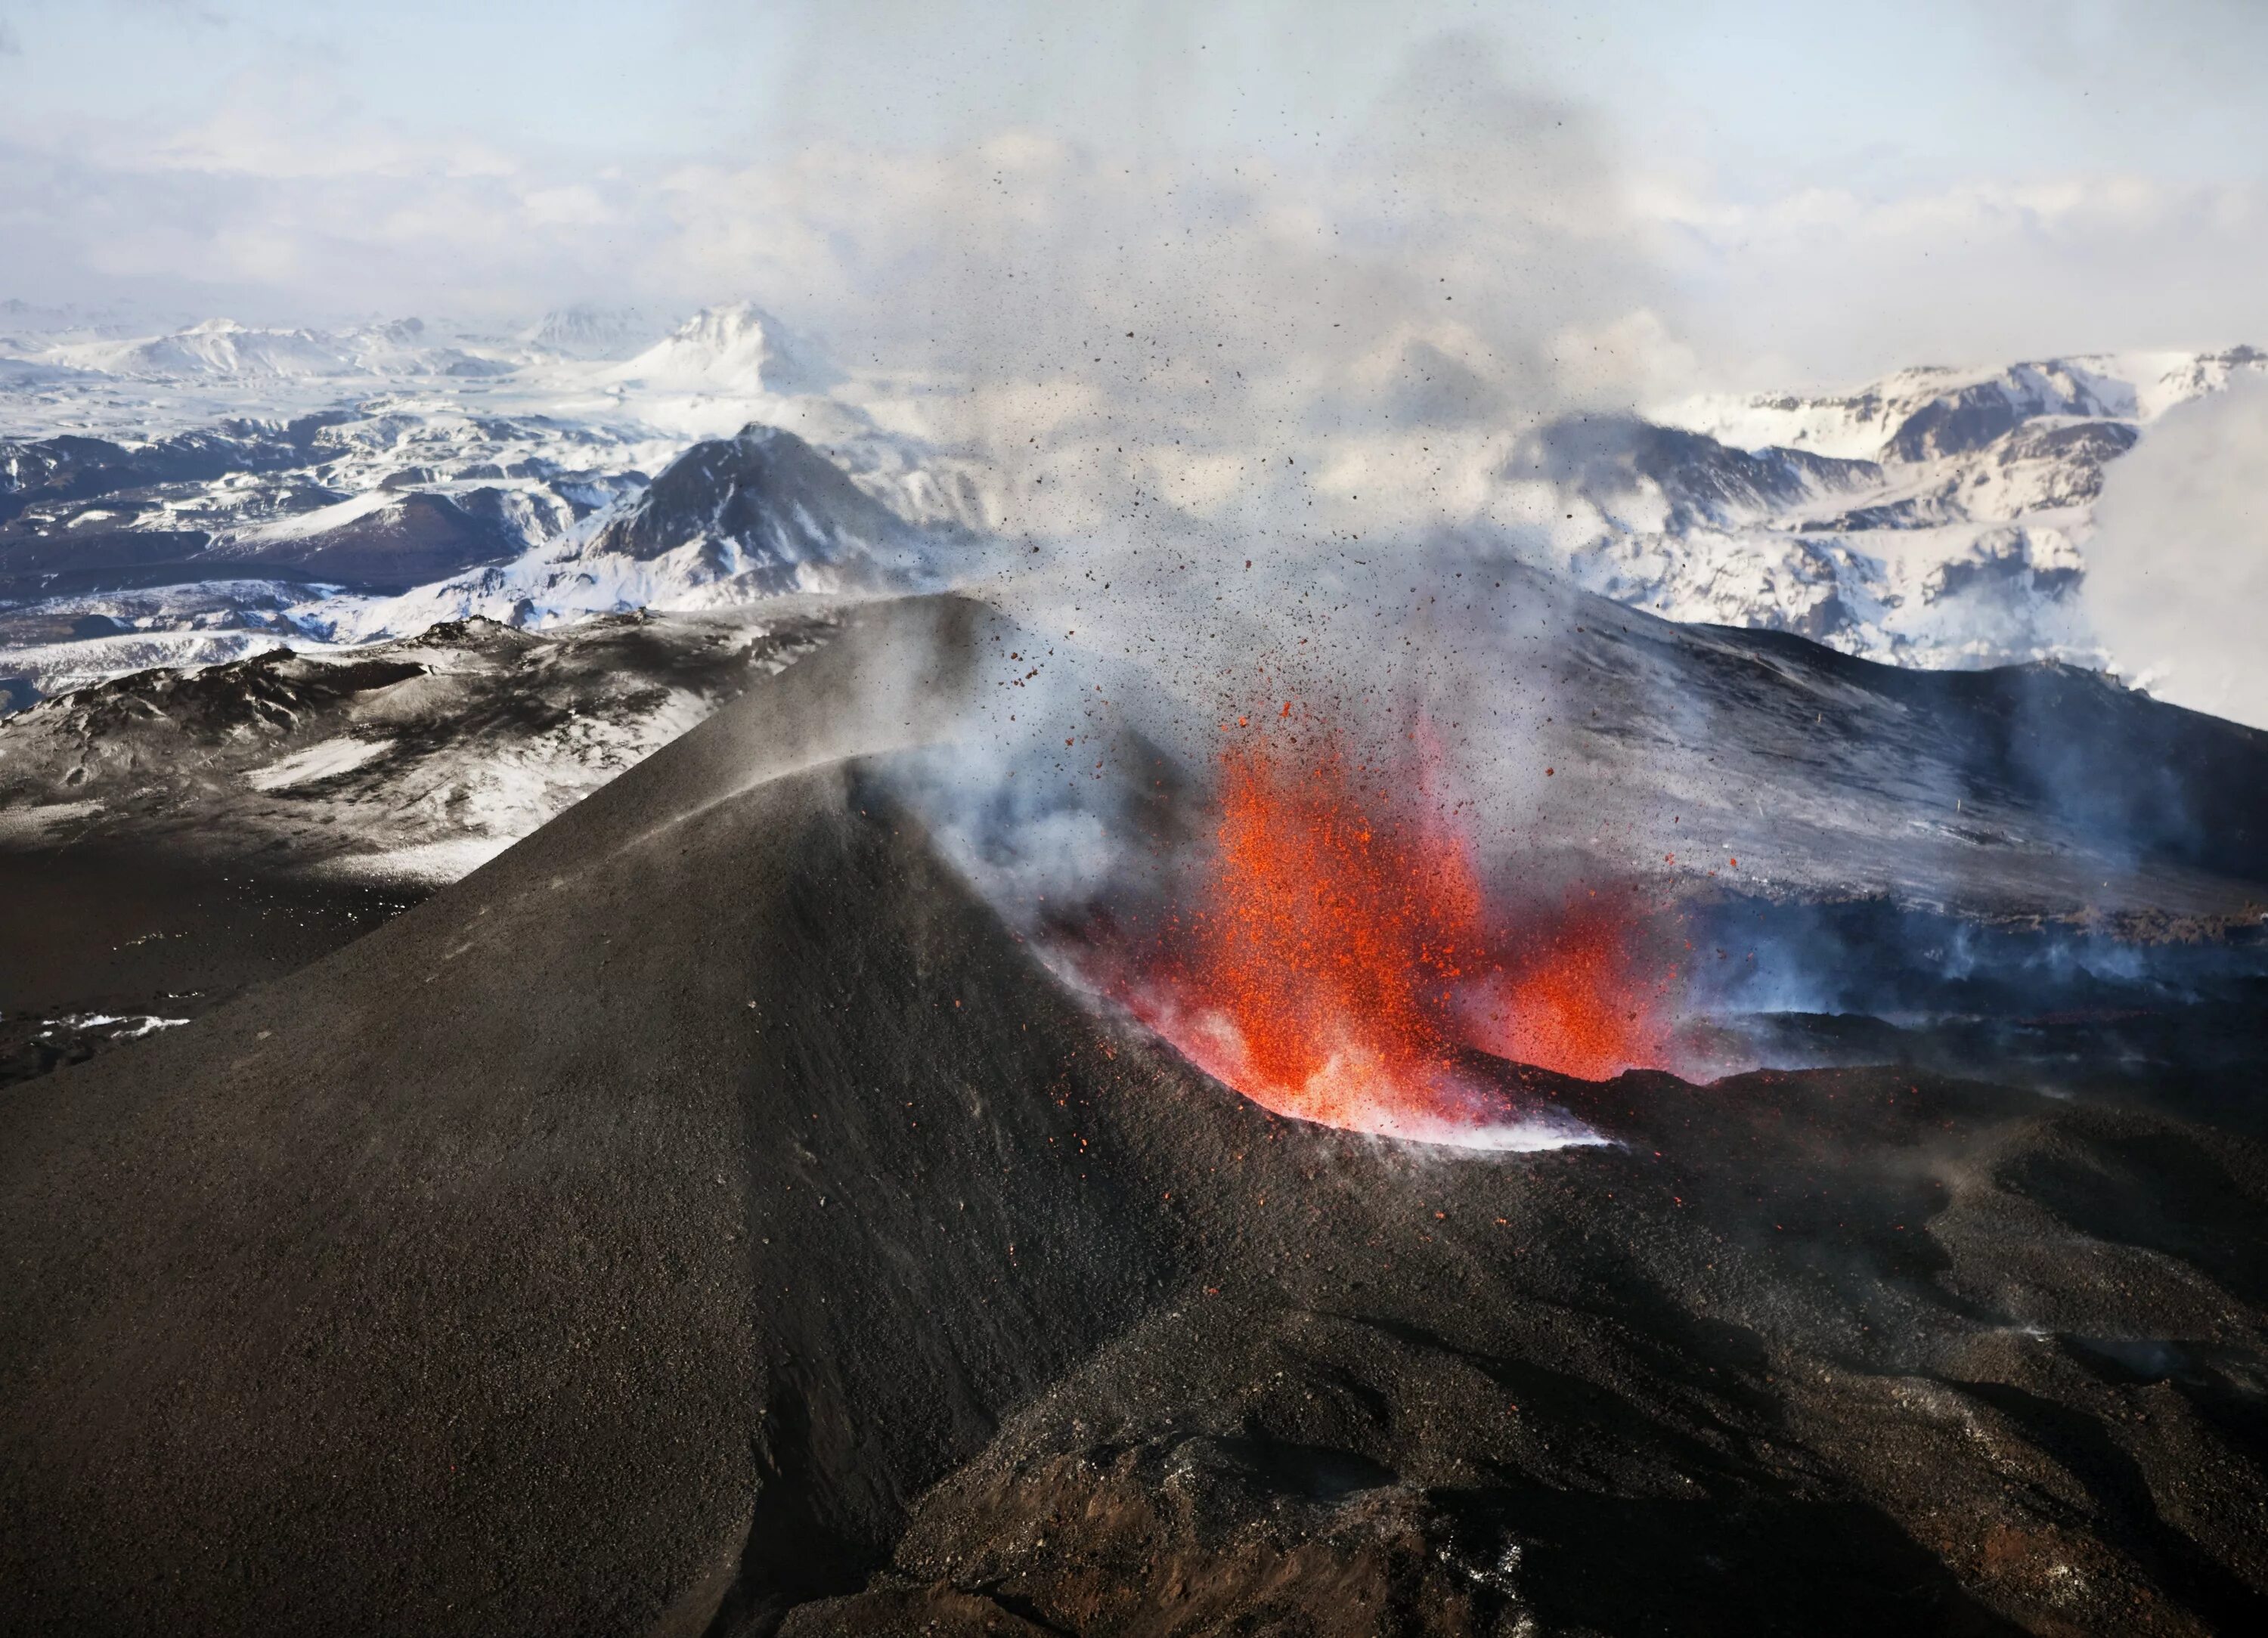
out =
[[[984,1604],[1084,1633],[2268,1609],[2261,1268],[2214,1246],[2268,1200],[2257,1152],[1885,1073],[1563,1096],[1626,1148],[1415,1171],[1286,1132],[1238,1157],[1216,1284],[1014,1418],[873,1588],[789,1631],[978,1631]],[[2193,1205],[2112,1230],[2080,1177]],[[2123,1366],[2084,1341],[2105,1325],[2245,1341]]]

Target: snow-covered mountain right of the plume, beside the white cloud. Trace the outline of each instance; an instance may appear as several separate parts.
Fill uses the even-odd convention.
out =
[[[1857,392],[1556,422],[1499,474],[1572,574],[1687,622],[1903,665],[2100,660],[2075,606],[2105,467],[2268,354],[1905,370]]]

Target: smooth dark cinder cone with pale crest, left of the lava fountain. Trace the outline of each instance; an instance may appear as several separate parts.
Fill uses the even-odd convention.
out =
[[[748,1611],[855,1584],[1139,1311],[1125,1071],[844,769],[764,780],[905,735],[830,678],[9,1096],[9,1629],[699,1631],[744,1552]]]

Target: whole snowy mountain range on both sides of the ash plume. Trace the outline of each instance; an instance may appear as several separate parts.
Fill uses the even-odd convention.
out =
[[[7,356],[16,354],[16,356]],[[1535,427],[1465,474],[1524,551],[1681,622],[1923,667],[2100,665],[2105,472],[2252,347],[1905,370]],[[751,302],[156,336],[0,309],[0,696],[279,638],[930,583],[1012,481],[869,413]],[[73,431],[61,431],[70,427]],[[95,436],[100,433],[100,436]],[[1501,445],[1499,445],[1501,451]]]

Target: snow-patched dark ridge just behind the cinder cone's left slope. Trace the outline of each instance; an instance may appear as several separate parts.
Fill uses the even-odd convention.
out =
[[[767,622],[454,622],[336,653],[145,669],[0,719],[0,837],[168,837],[447,880],[826,640]]]

